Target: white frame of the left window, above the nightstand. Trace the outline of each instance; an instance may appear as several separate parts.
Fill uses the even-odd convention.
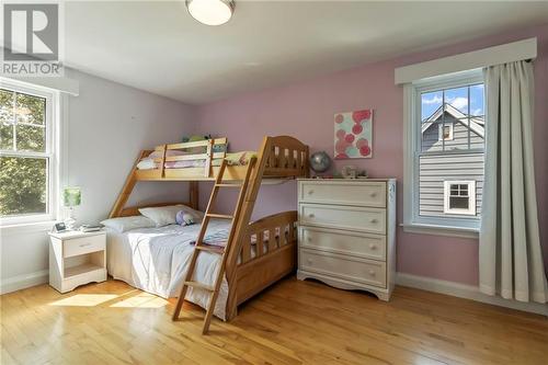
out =
[[[60,95],[50,89],[21,82],[12,79],[0,78],[0,88],[15,92],[44,98],[46,100],[46,150],[45,152],[33,151],[8,151],[2,150],[0,155],[8,157],[47,158],[47,212],[45,214],[25,214],[7,216],[0,218],[1,227],[19,226],[37,223],[52,223],[59,216],[59,141],[60,141]]]

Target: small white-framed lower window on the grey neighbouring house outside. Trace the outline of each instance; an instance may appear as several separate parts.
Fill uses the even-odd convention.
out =
[[[476,215],[476,182],[445,181],[444,213]]]

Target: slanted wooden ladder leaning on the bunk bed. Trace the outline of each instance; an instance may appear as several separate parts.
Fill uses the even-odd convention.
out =
[[[194,252],[192,253],[191,264],[186,272],[186,276],[183,282],[183,287],[181,288],[181,294],[179,295],[179,300],[176,301],[175,311],[173,312],[172,319],[175,321],[179,319],[181,313],[181,309],[183,306],[184,297],[186,295],[186,290],[189,286],[193,288],[205,289],[209,293],[209,303],[206,308],[206,316],[204,318],[204,328],[202,330],[203,334],[206,334],[209,329],[209,323],[212,321],[212,316],[215,310],[215,304],[217,303],[217,297],[219,295],[220,284],[222,283],[222,277],[225,276],[225,270],[227,265],[227,259],[232,246],[236,244],[235,239],[238,235],[236,235],[236,229],[238,226],[238,219],[240,218],[241,208],[243,205],[243,199],[246,197],[246,193],[249,185],[249,180],[251,176],[251,171],[255,166],[256,158],[250,159],[248,163],[248,168],[246,170],[246,178],[240,183],[224,183],[222,176],[225,174],[227,168],[227,161],[222,160],[222,163],[219,168],[219,172],[217,178],[215,179],[215,185],[213,186],[212,195],[209,196],[209,202],[207,203],[207,208],[205,212],[204,219],[202,221],[202,227],[199,229],[198,238],[196,239],[196,243],[194,246]],[[217,198],[217,194],[221,187],[240,187],[240,193],[238,195],[238,201],[236,203],[236,208],[232,215],[224,215],[224,214],[215,214],[212,213],[213,207],[215,206],[215,201]],[[209,220],[212,218],[220,218],[220,219],[230,219],[231,227],[230,232],[228,235],[227,243],[224,248],[220,247],[212,247],[204,244],[204,237],[207,231],[207,226],[209,225]],[[196,262],[201,252],[212,252],[221,255],[221,263],[219,266],[219,271],[217,272],[217,277],[215,278],[214,285],[207,285],[201,282],[193,281],[194,270],[196,269]]]

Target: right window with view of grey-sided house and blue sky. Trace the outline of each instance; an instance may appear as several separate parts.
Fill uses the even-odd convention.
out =
[[[406,87],[404,225],[476,231],[481,217],[481,70]]]

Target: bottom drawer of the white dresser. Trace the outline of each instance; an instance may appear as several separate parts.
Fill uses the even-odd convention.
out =
[[[299,250],[299,270],[386,287],[386,264],[316,250]]]

